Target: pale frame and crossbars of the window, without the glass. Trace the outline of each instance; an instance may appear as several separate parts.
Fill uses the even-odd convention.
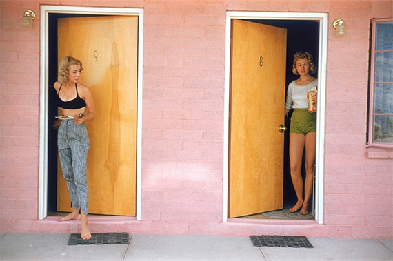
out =
[[[367,147],[387,147],[387,148],[392,148],[393,143],[375,143],[374,142],[374,116],[378,115],[387,115],[387,116],[393,116],[393,114],[376,114],[374,113],[374,86],[376,84],[393,84],[393,82],[375,82],[375,56],[379,52],[393,52],[393,50],[382,50],[378,51],[376,50],[376,24],[377,23],[383,23],[383,22],[393,22],[393,18],[388,18],[388,19],[372,19],[372,34],[371,34],[371,50],[370,50],[370,98],[369,98],[369,104],[368,104],[368,109],[369,109],[369,114],[368,114],[368,123],[367,123]]]

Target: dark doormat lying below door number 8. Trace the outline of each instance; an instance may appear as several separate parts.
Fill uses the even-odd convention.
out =
[[[314,248],[305,236],[250,236],[254,247]]]

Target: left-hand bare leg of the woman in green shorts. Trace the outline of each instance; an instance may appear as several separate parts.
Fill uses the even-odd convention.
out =
[[[305,136],[303,134],[290,134],[290,169],[291,178],[297,196],[297,202],[290,212],[297,212],[303,206],[303,178],[301,176],[301,165],[303,159],[303,149]]]

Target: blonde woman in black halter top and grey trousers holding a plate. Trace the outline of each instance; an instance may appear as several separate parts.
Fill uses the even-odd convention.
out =
[[[57,221],[81,220],[81,238],[90,239],[86,176],[90,141],[85,122],[92,121],[95,112],[92,92],[79,83],[82,70],[81,61],[66,56],[59,64],[58,81],[54,83],[57,105],[63,112],[54,127],[59,129],[57,147],[72,204],[72,212]]]

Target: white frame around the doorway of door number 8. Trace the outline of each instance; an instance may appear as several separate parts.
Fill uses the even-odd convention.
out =
[[[225,28],[224,83],[224,159],[223,159],[223,222],[228,220],[228,152],[230,108],[230,34],[232,19],[312,20],[319,21],[318,110],[316,123],[315,220],[323,224],[323,155],[325,145],[326,64],[328,54],[328,14],[310,12],[227,12]]]

